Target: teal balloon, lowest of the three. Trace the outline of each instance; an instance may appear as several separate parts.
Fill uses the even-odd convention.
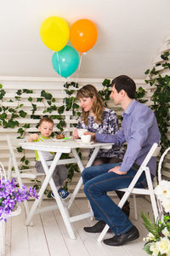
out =
[[[79,55],[77,50],[66,45],[63,49],[54,52],[52,56],[52,64],[56,73],[63,78],[68,78],[77,70],[79,64]]]

